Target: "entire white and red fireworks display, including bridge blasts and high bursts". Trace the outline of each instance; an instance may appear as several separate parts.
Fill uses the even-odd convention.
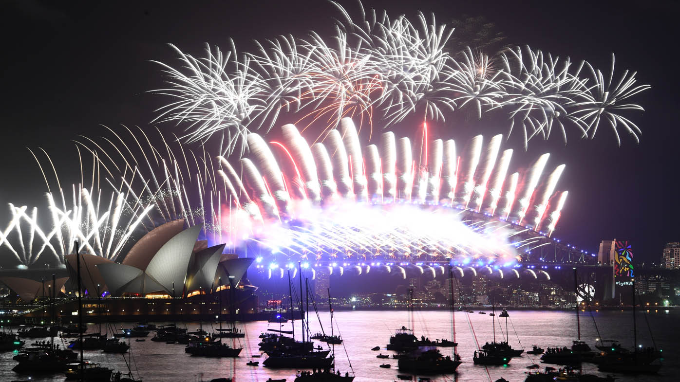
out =
[[[529,47],[449,54],[454,31],[434,16],[412,22],[362,9],[354,19],[337,9],[342,21],[331,37],[277,37],[245,54],[234,44],[226,54],[208,46],[203,58],[173,47],[180,65],[159,63],[168,86],[155,92],[171,101],[156,120],[185,133],[166,139],[124,127],[80,139],[81,179],[70,190],[49,157],[35,156],[47,213],[10,204],[0,246],[24,265],[44,254],[63,262],[75,240],[115,260],[136,234],[184,219],[232,251],[511,264],[555,230],[564,164],[551,169],[543,154],[513,171],[502,135],[460,145],[428,137],[428,123],[457,112],[500,118],[525,146],[554,130],[565,141],[573,129],[592,138],[605,124],[619,143],[619,130],[641,134],[622,113],[641,111],[630,99],[649,86],[637,85],[636,73],[616,75],[613,58],[605,74]],[[269,141],[284,116],[295,124]],[[418,143],[377,134],[376,126],[410,124],[411,116],[422,126]],[[362,129],[373,144],[362,145]],[[208,139],[218,139],[218,156],[205,151]]]

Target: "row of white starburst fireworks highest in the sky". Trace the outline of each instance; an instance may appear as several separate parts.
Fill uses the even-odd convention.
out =
[[[177,50],[180,69],[160,64],[169,87],[156,92],[173,101],[156,120],[188,122],[187,141],[221,135],[222,153],[239,156],[248,149],[248,133],[266,134],[282,113],[303,130],[313,126],[320,138],[343,117],[372,133],[378,121],[389,127],[414,114],[443,121],[472,109],[477,118],[498,111],[510,133],[519,128],[525,145],[547,139],[554,128],[564,141],[568,128],[592,138],[601,123],[613,128],[619,144],[619,129],[639,139],[641,130],[621,113],[643,110],[629,99],[649,86],[636,85],[629,71],[616,80],[613,56],[605,75],[585,61],[573,65],[529,47],[451,55],[454,29],[434,16],[411,22],[361,8],[354,20],[336,5],[344,21],[332,37],[279,37],[241,56],[235,48],[223,55],[208,47],[203,58]]]

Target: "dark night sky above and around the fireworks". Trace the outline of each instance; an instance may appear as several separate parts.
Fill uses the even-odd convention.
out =
[[[356,10],[356,3],[346,3]],[[596,3],[596,4],[591,4]],[[556,135],[531,141],[522,152],[513,139],[513,166],[551,152],[549,168],[566,163],[559,188],[570,191],[556,237],[597,251],[602,239],[628,239],[638,260],[656,261],[664,243],[680,241],[677,202],[677,14],[672,1],[364,1],[392,16],[434,12],[439,22],[485,16],[507,44],[529,44],[574,61],[617,73],[638,71],[652,89],[636,98],[646,109],[628,114],[643,130],[641,143],[609,128],[594,141],[565,146]],[[331,33],[335,9],[325,1],[3,1],[3,134],[0,137],[0,222],[8,202],[44,206],[44,182],[26,147],[44,147],[58,171],[75,179],[78,162],[71,139],[103,134],[99,124],[146,126],[163,99],[157,65],[176,63],[172,43],[201,55],[204,44],[241,51],[252,39],[309,30]],[[454,33],[455,36],[455,33]],[[488,122],[492,123],[492,122]],[[172,126],[160,126],[172,128]],[[505,126],[500,126],[505,131]],[[494,130],[490,128],[489,131]],[[496,129],[497,130],[497,129]],[[489,131],[440,124],[443,138]],[[4,223],[3,223],[4,224]]]

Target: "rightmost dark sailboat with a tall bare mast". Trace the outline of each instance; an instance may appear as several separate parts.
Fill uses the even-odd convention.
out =
[[[635,279],[632,279],[632,305],[633,305],[633,351],[613,351],[605,353],[599,360],[598,368],[602,371],[630,372],[630,373],[655,373],[661,369],[662,364],[657,361],[660,353],[656,347],[641,349],[637,343],[637,321],[635,317]]]

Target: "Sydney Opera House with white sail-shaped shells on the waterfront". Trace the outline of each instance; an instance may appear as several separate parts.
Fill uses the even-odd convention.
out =
[[[222,313],[230,309],[236,313],[255,313],[256,288],[245,278],[254,259],[223,254],[224,244],[208,247],[207,241],[199,240],[202,228],[202,225],[186,228],[184,220],[160,225],[141,237],[121,262],[80,254],[81,290],[86,301],[90,301],[84,305],[88,313],[212,316],[217,308],[211,305],[218,304],[218,294],[223,294]],[[74,295],[78,293],[78,258],[71,254],[65,260],[65,270],[56,270],[54,285],[58,294]],[[52,294],[49,277],[35,281],[35,275],[32,279],[2,275],[0,282],[24,302],[49,298]],[[92,303],[95,298],[99,304]],[[170,307],[170,302],[163,302],[168,299],[181,302]],[[202,311],[201,305],[206,301],[209,307]],[[75,302],[59,307],[61,315],[71,315],[76,310]]]

